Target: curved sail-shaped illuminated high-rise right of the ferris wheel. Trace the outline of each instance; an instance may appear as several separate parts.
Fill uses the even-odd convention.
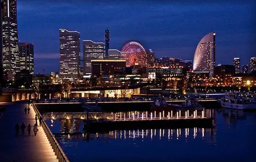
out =
[[[193,70],[214,74],[215,67],[215,32],[205,35],[194,53]]]

